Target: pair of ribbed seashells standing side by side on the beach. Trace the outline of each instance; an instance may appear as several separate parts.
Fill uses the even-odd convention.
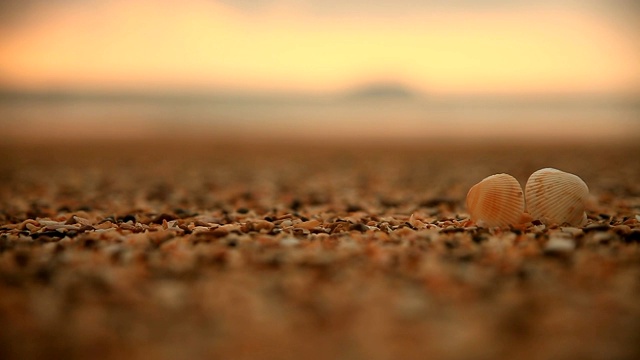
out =
[[[485,178],[469,190],[467,209],[480,226],[517,225],[534,219],[547,225],[582,226],[587,221],[588,196],[589,188],[578,176],[545,168],[531,174],[524,195],[518,180],[509,174]]]

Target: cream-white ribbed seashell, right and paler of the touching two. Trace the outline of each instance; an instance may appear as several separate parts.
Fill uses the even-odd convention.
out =
[[[589,188],[582,179],[553,168],[534,172],[525,186],[529,214],[547,225],[584,225],[588,196]]]

